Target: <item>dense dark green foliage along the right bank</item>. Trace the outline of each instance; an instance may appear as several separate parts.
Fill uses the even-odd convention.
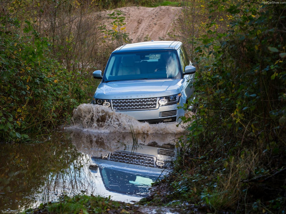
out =
[[[199,20],[188,6],[185,17]],[[188,134],[178,144],[168,200],[205,203],[212,211],[285,212],[286,5],[200,6],[209,20],[198,24],[201,31],[195,22],[187,31],[195,34],[189,50],[200,68],[197,108],[182,118]]]

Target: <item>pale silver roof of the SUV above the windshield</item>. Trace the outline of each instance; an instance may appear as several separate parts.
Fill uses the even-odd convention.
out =
[[[112,53],[177,50],[181,45],[182,43],[179,41],[138,42],[122,45]]]

